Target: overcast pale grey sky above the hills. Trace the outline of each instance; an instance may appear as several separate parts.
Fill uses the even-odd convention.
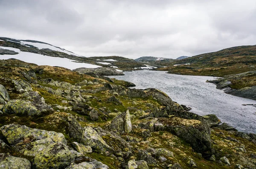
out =
[[[82,56],[177,58],[256,45],[256,0],[0,0],[0,37]]]

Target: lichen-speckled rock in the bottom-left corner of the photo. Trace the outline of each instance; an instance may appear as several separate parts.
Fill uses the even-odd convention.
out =
[[[0,154],[1,169],[31,169],[31,163],[25,158]]]

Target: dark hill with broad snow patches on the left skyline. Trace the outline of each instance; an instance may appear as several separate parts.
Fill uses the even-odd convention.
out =
[[[133,70],[144,64],[120,56],[84,57],[49,43],[0,37],[0,59],[19,59],[37,65],[68,69],[112,67]]]

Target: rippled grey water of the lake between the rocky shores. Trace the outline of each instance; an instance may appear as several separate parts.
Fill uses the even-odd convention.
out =
[[[215,114],[239,131],[256,133],[256,107],[242,104],[256,104],[256,101],[232,96],[216,89],[206,80],[210,76],[185,76],[163,71],[137,70],[125,72],[125,76],[109,76],[133,82],[139,89],[157,88],[179,104],[192,108],[199,115]]]

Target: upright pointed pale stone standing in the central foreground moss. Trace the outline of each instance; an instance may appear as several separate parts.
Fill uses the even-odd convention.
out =
[[[117,115],[115,118],[113,118],[111,124],[108,125],[108,130],[119,134],[129,133],[131,132],[131,129],[131,115],[129,110],[127,110],[125,113]]]

